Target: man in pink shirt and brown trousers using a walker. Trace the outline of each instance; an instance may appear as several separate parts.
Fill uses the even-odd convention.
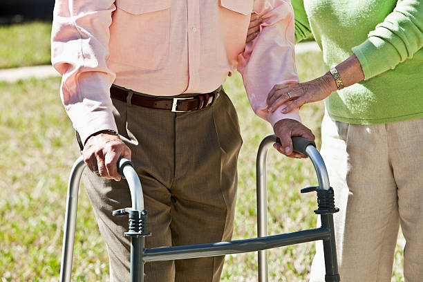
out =
[[[245,45],[250,14],[264,19]],[[275,84],[298,82],[289,0],[57,0],[52,62],[77,130],[86,191],[106,241],[111,281],[129,280],[130,205],[116,162],[132,159],[149,213],[147,247],[232,236],[238,118],[221,84],[238,69],[255,113],[274,126],[284,153],[298,111],[267,112]],[[292,129],[295,129],[294,131]],[[280,149],[280,148],[279,148]],[[282,150],[281,150],[282,151]],[[223,256],[149,263],[146,281],[218,281]]]

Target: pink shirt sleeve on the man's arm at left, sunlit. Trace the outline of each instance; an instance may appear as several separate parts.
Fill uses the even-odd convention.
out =
[[[56,0],[51,61],[62,75],[60,95],[82,142],[104,129],[117,131],[106,64],[113,0]]]

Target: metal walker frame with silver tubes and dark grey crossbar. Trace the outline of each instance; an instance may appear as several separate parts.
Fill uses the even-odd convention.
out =
[[[335,246],[335,232],[333,213],[339,209],[335,207],[333,189],[329,185],[328,173],[319,151],[312,141],[304,138],[292,138],[294,150],[310,157],[317,173],[319,186],[301,189],[301,193],[317,191],[319,209],[315,214],[321,216],[321,227],[267,236],[267,189],[266,189],[266,157],[267,152],[274,142],[278,142],[274,135],[268,135],[260,144],[256,162],[257,182],[257,221],[258,238],[249,238],[220,243],[199,245],[185,245],[177,247],[144,248],[144,238],[149,236],[145,229],[147,225],[147,211],[144,209],[142,187],[137,173],[129,160],[120,159],[118,168],[125,176],[131,192],[132,207],[120,209],[113,215],[129,214],[129,232],[125,236],[131,237],[131,282],[144,281],[144,263],[151,261],[169,261],[175,259],[192,259],[204,256],[220,256],[225,254],[238,254],[245,252],[259,252],[259,282],[267,282],[267,249],[323,240],[323,250],[326,266],[326,282],[339,282],[337,253]],[[60,281],[71,281],[73,245],[75,240],[75,224],[77,216],[77,201],[79,181],[85,164],[79,157],[73,165],[68,182],[66,200],[66,214],[64,225],[64,239],[62,248],[62,267]]]

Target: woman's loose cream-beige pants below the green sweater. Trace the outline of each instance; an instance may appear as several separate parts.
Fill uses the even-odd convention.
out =
[[[389,124],[334,122],[325,115],[321,154],[335,190],[342,282],[391,281],[401,225],[405,281],[423,281],[423,119]],[[324,281],[317,243],[310,281]]]

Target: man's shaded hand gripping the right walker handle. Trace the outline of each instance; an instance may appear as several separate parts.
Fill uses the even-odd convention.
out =
[[[279,120],[273,126],[274,134],[281,139],[281,144],[274,143],[274,149],[290,158],[307,158],[301,153],[294,152],[291,137],[301,136],[314,141],[315,137],[310,129],[297,120]]]

